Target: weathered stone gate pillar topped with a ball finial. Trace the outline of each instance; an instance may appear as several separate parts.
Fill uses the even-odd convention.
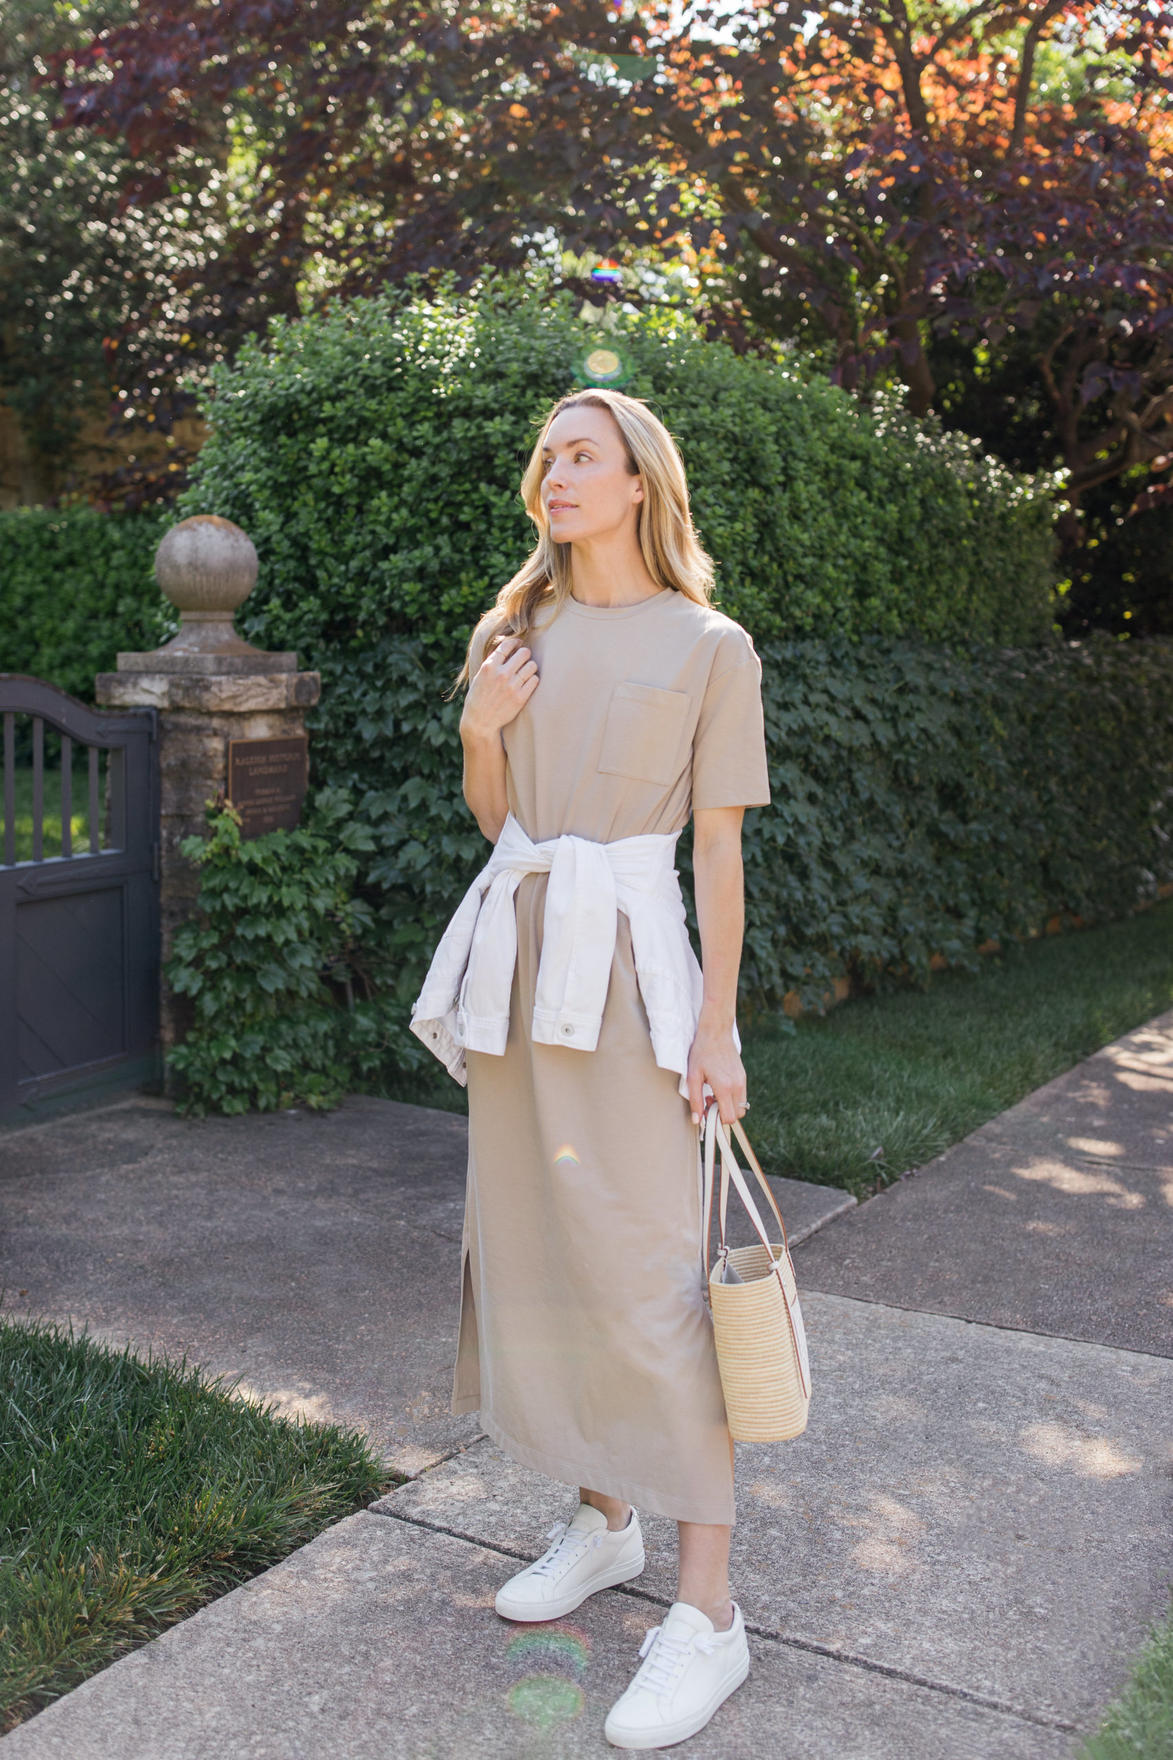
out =
[[[118,655],[100,672],[97,700],[111,709],[153,708],[160,723],[160,919],[162,957],[195,910],[199,869],[179,845],[204,829],[204,806],[225,790],[230,739],[304,734],[304,711],[322,693],[317,672],[299,672],[297,655],[274,655],[241,641],[232,623],[257,583],[257,551],[230,519],[197,514],[164,537],[155,577],[179,611],[179,634],[153,653]],[[162,982],[164,1056],[186,1030],[190,1005]]]

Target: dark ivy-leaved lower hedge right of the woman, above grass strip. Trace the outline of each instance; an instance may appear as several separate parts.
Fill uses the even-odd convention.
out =
[[[742,989],[923,979],[1173,882],[1173,644],[767,644]]]

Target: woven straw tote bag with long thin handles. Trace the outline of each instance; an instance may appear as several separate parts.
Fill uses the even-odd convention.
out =
[[[807,1427],[811,1406],[807,1339],[798,1306],[795,1267],[786,1244],[786,1225],[740,1123],[733,1125],[733,1135],[746,1151],[746,1160],[758,1176],[758,1184],[777,1218],[781,1243],[770,1241],[765,1232],[716,1102],[710,1102],[705,1112],[703,1130],[705,1285],[730,1434],[739,1441],[786,1441],[790,1436],[800,1436]],[[718,1148],[721,1149],[721,1250],[710,1271],[709,1236]],[[730,1181],[737,1186],[737,1195],[760,1236],[756,1246],[730,1248],[726,1244],[725,1216]]]

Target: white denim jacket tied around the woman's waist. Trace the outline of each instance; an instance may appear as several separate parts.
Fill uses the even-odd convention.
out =
[[[466,1051],[505,1056],[517,964],[514,894],[522,875],[549,873],[533,1040],[594,1051],[616,952],[616,912],[631,924],[635,975],[661,1070],[688,1096],[688,1054],[703,996],[688,938],[675,834],[593,843],[561,836],[533,843],[514,815],[443,933],[415,1007],[412,1031],[461,1086]],[[733,1033],[737,1044],[737,1033]],[[739,1045],[740,1049],[740,1045]]]

